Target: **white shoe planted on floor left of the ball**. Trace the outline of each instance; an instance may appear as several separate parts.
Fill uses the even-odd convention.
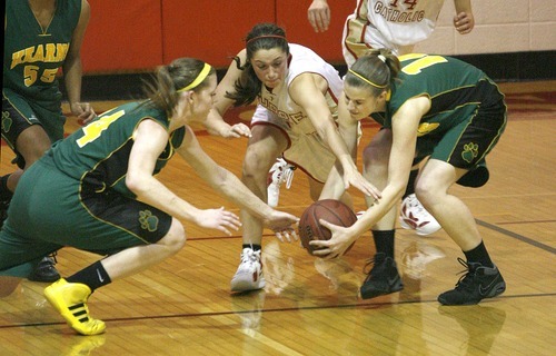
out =
[[[266,280],[262,276],[262,264],[260,250],[255,251],[250,247],[241,251],[241,263],[234,278],[231,278],[231,291],[247,291],[265,288]]]

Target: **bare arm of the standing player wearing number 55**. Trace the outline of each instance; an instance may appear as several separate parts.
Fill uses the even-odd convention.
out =
[[[89,102],[81,101],[81,44],[83,43],[85,32],[89,24],[91,9],[87,0],[81,2],[81,14],[79,22],[73,31],[68,56],[62,65],[63,81],[68,91],[68,100],[71,112],[82,119],[85,123],[92,120],[96,115]]]

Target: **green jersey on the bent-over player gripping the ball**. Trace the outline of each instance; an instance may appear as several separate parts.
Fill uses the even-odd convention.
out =
[[[430,110],[420,120],[418,137],[441,135],[468,120],[479,107],[488,110],[504,98],[481,70],[458,59],[419,53],[399,59],[401,71],[387,98],[386,112],[373,115],[387,128],[391,128],[398,109],[415,97],[427,96],[431,100]]]

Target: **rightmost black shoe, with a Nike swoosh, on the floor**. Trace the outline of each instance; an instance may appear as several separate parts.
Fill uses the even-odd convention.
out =
[[[506,290],[506,283],[496,266],[485,267],[478,263],[466,263],[461,258],[457,260],[467,268],[467,273],[459,278],[456,288],[438,296],[440,304],[477,304],[484,298],[494,298]]]

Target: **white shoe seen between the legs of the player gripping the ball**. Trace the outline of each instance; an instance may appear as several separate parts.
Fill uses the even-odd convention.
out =
[[[430,235],[441,228],[440,224],[423,207],[415,194],[407,196],[401,201],[399,222],[403,228],[415,230],[420,236]]]

